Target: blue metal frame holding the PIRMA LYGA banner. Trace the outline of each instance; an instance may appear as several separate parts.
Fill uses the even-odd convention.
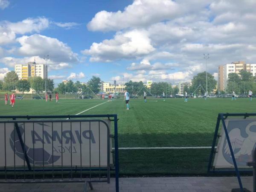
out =
[[[17,119],[21,120],[21,119],[60,119],[60,118],[66,118],[66,119],[71,119],[71,118],[102,118],[102,117],[107,117],[109,120],[114,121],[114,142],[115,142],[115,149],[114,149],[114,153],[115,153],[115,169],[111,169],[115,171],[115,180],[116,180],[116,192],[119,192],[119,151],[118,151],[118,125],[117,125],[117,115],[116,114],[107,114],[107,115],[56,115],[56,116],[0,116],[0,119],[12,119],[12,122],[14,121],[18,121]],[[110,119],[113,118],[113,119]],[[59,120],[53,120],[54,122],[58,122]],[[20,144],[22,146],[22,148],[24,148],[24,143],[20,134],[20,130],[19,128],[17,128],[16,126],[17,123],[15,123],[15,129],[17,130],[17,134],[20,140]],[[29,163],[29,159],[27,157],[27,154],[25,153],[25,159],[26,159],[26,163],[28,166],[28,170],[26,171],[31,171],[31,166]],[[40,169],[38,169],[40,170]],[[52,169],[49,169],[50,171],[52,171]],[[70,171],[71,169],[65,169],[67,171]],[[72,169],[73,171],[76,169]],[[81,169],[79,169],[81,170]],[[83,169],[83,170],[88,170],[88,169]],[[97,169],[95,169],[97,170]],[[103,170],[103,169],[101,169]],[[106,169],[107,170],[107,169]],[[11,170],[4,170],[6,172],[9,172]],[[18,169],[17,169],[18,171]],[[24,171],[23,169],[20,171]],[[46,169],[44,171],[47,171]],[[64,181],[65,182],[65,181]],[[67,181],[68,182],[68,181]],[[93,182],[93,181],[90,181]]]

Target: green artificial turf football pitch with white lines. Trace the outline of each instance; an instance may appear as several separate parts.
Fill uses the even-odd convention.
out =
[[[73,115],[101,99],[17,100],[15,107],[0,100],[0,115]],[[122,99],[106,102],[82,114],[117,114],[119,147],[211,146],[218,113],[256,112],[248,99]],[[210,149],[120,150],[121,175],[205,175]]]

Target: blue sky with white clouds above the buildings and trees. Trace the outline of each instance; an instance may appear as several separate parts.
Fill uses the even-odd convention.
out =
[[[0,0],[0,80],[45,55],[55,84],[217,78],[218,65],[256,63],[255,10],[255,0]]]

